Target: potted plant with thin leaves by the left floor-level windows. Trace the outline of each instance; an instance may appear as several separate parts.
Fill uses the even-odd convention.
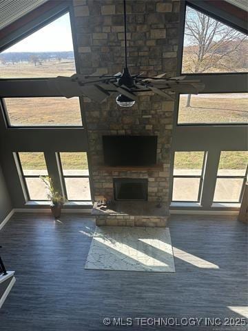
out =
[[[41,176],[40,178],[48,189],[48,199],[51,201],[50,208],[52,210],[54,219],[57,219],[61,217],[61,208],[63,207],[66,199],[63,197],[63,195],[55,190],[52,178],[48,176]]]

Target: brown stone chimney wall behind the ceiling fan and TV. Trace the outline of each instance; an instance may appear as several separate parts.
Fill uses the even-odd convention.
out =
[[[127,0],[128,66],[132,74],[176,75],[180,1]],[[123,1],[74,0],[76,38],[82,74],[123,70]],[[84,98],[94,194],[113,199],[113,177],[147,178],[148,201],[168,203],[174,101],[144,92],[132,108],[120,108],[116,95],[103,103]],[[101,170],[102,136],[157,135],[160,171]]]

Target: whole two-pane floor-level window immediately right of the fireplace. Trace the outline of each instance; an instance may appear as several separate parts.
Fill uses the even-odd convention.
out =
[[[175,152],[172,201],[199,202],[205,152]]]

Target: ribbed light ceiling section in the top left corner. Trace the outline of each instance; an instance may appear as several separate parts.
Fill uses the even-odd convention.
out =
[[[48,0],[0,0],[0,30]]]

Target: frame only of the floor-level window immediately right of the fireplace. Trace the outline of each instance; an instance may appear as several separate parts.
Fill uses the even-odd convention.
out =
[[[203,181],[204,181],[204,173],[205,173],[205,165],[207,161],[207,151],[206,150],[175,150],[174,155],[176,152],[203,152],[203,166],[200,174],[172,174],[172,203],[200,203],[201,195],[202,195],[202,190],[203,190]],[[173,167],[174,168],[174,167]],[[173,200],[173,189],[174,189],[174,178],[198,178],[200,179],[199,182],[199,188],[198,188],[198,196],[197,196],[197,201],[194,200]]]

